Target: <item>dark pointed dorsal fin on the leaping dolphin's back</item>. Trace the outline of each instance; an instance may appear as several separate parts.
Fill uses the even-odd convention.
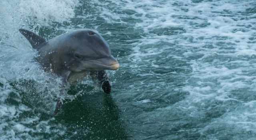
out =
[[[31,31],[25,29],[19,29],[19,31],[22,33],[22,35],[24,35],[24,37],[26,37],[26,39],[28,39],[29,43],[34,49],[40,49],[39,46],[46,42],[44,38],[32,33]]]

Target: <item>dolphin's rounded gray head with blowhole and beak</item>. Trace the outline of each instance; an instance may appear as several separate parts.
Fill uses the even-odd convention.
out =
[[[70,34],[68,56],[70,70],[117,70],[119,63],[111,55],[108,43],[94,30],[81,29]]]

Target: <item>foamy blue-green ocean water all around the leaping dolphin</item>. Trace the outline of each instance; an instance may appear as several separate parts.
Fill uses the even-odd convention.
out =
[[[0,140],[256,139],[255,0],[0,0]],[[96,29],[121,67],[52,116],[60,78],[18,32]]]

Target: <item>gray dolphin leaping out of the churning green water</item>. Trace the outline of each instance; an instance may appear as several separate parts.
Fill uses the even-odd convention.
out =
[[[76,84],[88,74],[100,81],[105,93],[110,93],[111,85],[105,70],[117,70],[119,63],[111,55],[108,43],[97,31],[78,29],[49,41],[28,30],[19,31],[38,51],[36,60],[41,67],[62,77],[60,94],[64,94],[64,88],[68,83]],[[62,104],[58,99],[54,115],[58,113]]]

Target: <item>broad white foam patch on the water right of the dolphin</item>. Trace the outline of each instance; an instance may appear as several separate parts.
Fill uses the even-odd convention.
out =
[[[145,78],[148,85],[155,89],[160,89],[160,87],[161,91],[167,89],[165,95],[154,89],[150,89],[152,91],[150,93],[138,89],[140,93],[136,95],[136,98],[160,100],[165,97],[170,101],[168,102],[170,105],[158,108],[159,114],[154,111],[147,112],[140,115],[138,120],[147,116],[154,122],[157,122],[156,120],[161,122],[161,119],[165,117],[176,118],[180,114],[177,118],[186,117],[178,121],[165,121],[162,128],[168,128],[167,125],[173,126],[173,131],[183,132],[178,133],[181,135],[186,131],[189,134],[199,132],[201,138],[209,135],[210,132],[213,134],[207,138],[224,138],[221,136],[225,132],[233,134],[232,138],[238,138],[240,133],[236,132],[240,130],[250,132],[252,129],[254,131],[254,124],[252,124],[254,122],[248,120],[247,117],[240,118],[244,122],[235,123],[235,120],[239,120],[239,117],[235,116],[240,113],[250,116],[243,110],[244,108],[241,107],[239,111],[234,110],[242,103],[255,100],[252,95],[255,91],[252,86],[255,85],[253,81],[255,81],[254,75],[256,74],[254,70],[256,64],[253,60],[255,45],[252,44],[255,40],[255,20],[252,15],[255,13],[250,10],[255,7],[253,1],[138,2],[126,0],[116,2],[116,4],[115,10],[119,12],[126,14],[127,10],[133,11],[126,14],[124,18],[128,16],[134,21],[140,19],[136,23],[128,21],[122,23],[135,25],[134,29],[144,31],[144,36],[134,44],[134,53],[129,56],[130,66],[136,68],[132,69],[132,72],[143,73],[136,74],[136,76],[142,76],[141,79]],[[111,9],[103,10],[111,12]],[[175,74],[170,71],[168,73],[168,70],[165,71],[164,66],[168,67],[168,70],[173,70]],[[162,74],[159,74],[161,70]],[[176,76],[184,76],[184,79],[175,79]],[[175,78],[170,80],[172,77]],[[165,82],[161,79],[165,79]],[[177,86],[179,84],[175,82],[168,83],[168,80],[178,81],[182,86]],[[144,84],[140,85],[144,86]],[[136,85],[136,88],[140,87]],[[172,104],[174,91],[184,91],[189,94]],[[242,117],[242,115],[239,116]],[[230,119],[231,122],[228,121]],[[199,123],[204,121],[205,123],[200,123],[200,125],[209,129],[200,131],[200,128],[197,128],[192,121]],[[180,126],[183,123],[186,127],[184,129]],[[214,130],[210,129],[213,124],[216,128]],[[225,125],[232,126],[232,128],[239,127],[227,129]],[[242,126],[241,129],[240,126]],[[168,132],[170,135],[173,134],[172,131]],[[241,136],[250,138],[253,135],[246,137],[241,134]]]

